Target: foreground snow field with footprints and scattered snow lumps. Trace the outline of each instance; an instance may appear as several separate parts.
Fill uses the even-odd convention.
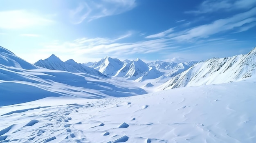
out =
[[[256,143],[256,81],[0,108],[0,142]]]

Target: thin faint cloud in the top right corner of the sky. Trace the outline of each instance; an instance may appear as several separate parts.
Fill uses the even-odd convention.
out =
[[[185,11],[185,13],[212,13],[219,10],[232,11],[236,9],[249,9],[256,6],[254,0],[205,0],[198,10]]]

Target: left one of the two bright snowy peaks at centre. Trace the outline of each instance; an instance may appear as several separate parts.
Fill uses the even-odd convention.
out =
[[[111,57],[106,56],[90,67],[99,70],[104,75],[113,76],[123,67],[123,65],[124,63],[119,59],[112,59]]]

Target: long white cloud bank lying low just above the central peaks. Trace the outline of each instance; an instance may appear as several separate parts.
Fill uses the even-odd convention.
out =
[[[127,34],[125,34],[127,35]],[[155,53],[165,50],[176,49],[172,42],[166,39],[147,40],[138,42],[120,42],[119,40],[127,36],[110,39],[104,37],[97,38],[79,38],[68,42],[53,42],[44,44],[40,53],[56,53],[75,55],[75,57],[86,57],[93,59],[95,57],[105,57],[106,55],[124,58],[134,54]]]

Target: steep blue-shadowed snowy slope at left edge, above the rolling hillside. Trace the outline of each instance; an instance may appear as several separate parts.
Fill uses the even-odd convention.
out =
[[[14,53],[0,46],[0,67],[11,66],[23,69],[38,69],[33,64],[17,57]]]

